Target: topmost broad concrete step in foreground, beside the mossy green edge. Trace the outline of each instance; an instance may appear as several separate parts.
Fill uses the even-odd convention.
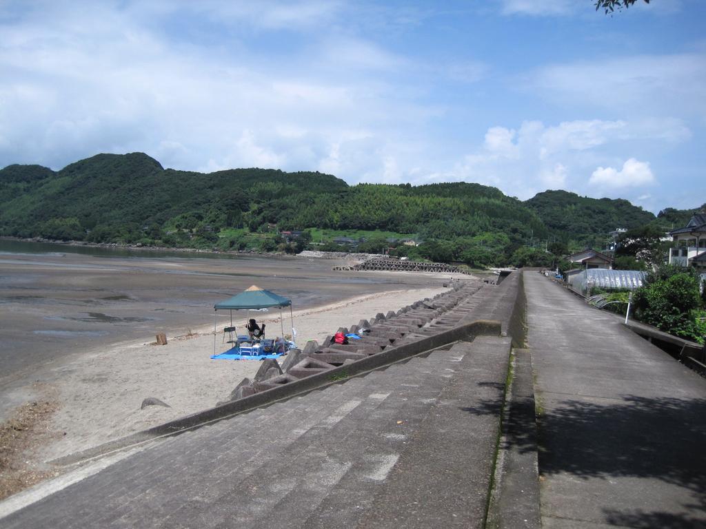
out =
[[[509,339],[457,343],[466,351],[360,526],[481,528],[496,453]]]

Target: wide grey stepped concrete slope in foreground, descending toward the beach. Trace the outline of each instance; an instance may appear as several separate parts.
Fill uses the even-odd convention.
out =
[[[491,403],[502,393],[507,360],[497,351],[497,341],[457,343],[181,434],[4,518],[3,527],[375,525],[393,494],[414,510],[407,496],[419,497],[429,480],[449,474],[457,486],[461,475],[433,453],[437,447],[454,451],[465,471],[486,468],[497,420]],[[481,397],[490,401],[488,413],[477,413],[485,409]],[[481,470],[473,475],[480,488]]]

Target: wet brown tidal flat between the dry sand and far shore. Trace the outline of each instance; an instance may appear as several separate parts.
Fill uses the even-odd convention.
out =
[[[252,284],[291,298],[294,310],[429,286],[429,278],[333,272],[336,264],[299,257],[1,253],[0,389],[87,348],[213,324],[214,303]]]

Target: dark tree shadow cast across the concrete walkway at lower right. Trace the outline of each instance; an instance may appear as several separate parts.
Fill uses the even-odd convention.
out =
[[[693,501],[683,504],[681,513],[604,509],[606,523],[706,528],[706,399],[631,395],[621,399],[566,400],[542,411],[537,417],[540,474],[651,478],[683,487]],[[513,406],[520,412],[516,415],[520,424],[508,432],[506,447],[532,451],[534,415],[527,409],[531,401]],[[499,412],[492,402],[462,409],[474,415]]]

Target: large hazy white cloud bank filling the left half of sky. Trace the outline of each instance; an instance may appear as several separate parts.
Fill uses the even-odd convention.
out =
[[[317,20],[340,7],[297,6],[304,4],[304,13],[319,13]],[[140,150],[177,169],[327,166],[355,181],[361,170],[383,175],[384,164],[382,158],[359,162],[378,151],[360,152],[359,138],[345,131],[366,130],[364,137],[374,135],[370,141],[379,147],[442,112],[417,102],[413,91],[393,88],[390,76],[412,66],[366,39],[334,39],[322,31],[306,49],[261,61],[237,37],[226,35],[216,47],[198,39],[174,41],[138,15],[192,9],[225,19],[257,18],[264,8],[125,5],[122,11],[107,4],[48,6],[11,24],[0,21],[0,166],[60,169],[96,152]],[[273,10],[266,25],[299,16],[297,6],[268,6]],[[336,142],[342,159],[327,162]]]

